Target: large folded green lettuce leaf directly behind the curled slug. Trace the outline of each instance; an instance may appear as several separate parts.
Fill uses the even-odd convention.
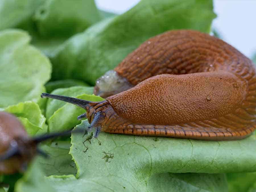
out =
[[[152,36],[172,29],[210,32],[212,9],[210,0],[141,0],[126,13],[103,20],[60,46],[51,58],[52,78],[94,84]]]

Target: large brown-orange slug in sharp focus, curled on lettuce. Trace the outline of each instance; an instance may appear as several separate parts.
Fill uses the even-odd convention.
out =
[[[41,96],[84,108],[95,137],[105,131],[235,140],[256,128],[252,61],[226,42],[197,31],[173,30],[150,38],[98,79],[95,93],[115,95],[102,102]],[[86,113],[78,118],[83,117]]]

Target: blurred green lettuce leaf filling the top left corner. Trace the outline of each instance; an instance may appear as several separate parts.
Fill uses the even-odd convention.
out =
[[[32,44],[51,55],[67,38],[102,19],[94,0],[1,0],[0,30],[20,28]]]

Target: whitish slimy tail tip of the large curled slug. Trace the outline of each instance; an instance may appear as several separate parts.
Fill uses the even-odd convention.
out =
[[[116,71],[110,70],[96,80],[94,95],[107,98],[132,87],[133,85],[126,78],[118,75]]]

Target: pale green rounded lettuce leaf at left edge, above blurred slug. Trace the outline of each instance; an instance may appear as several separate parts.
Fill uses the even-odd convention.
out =
[[[40,94],[50,79],[51,63],[29,41],[30,36],[22,30],[0,32],[0,108],[43,101]]]

